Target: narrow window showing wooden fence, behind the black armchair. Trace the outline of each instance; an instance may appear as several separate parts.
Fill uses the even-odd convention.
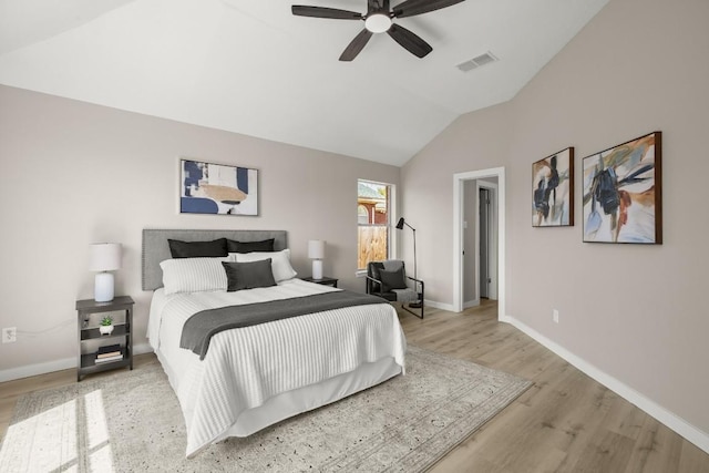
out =
[[[357,182],[357,268],[389,258],[390,184]]]

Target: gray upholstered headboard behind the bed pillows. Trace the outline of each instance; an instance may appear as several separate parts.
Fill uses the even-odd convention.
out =
[[[229,238],[237,241],[260,241],[274,238],[274,249],[288,248],[286,230],[181,230],[169,228],[143,229],[143,290],[163,287],[161,261],[172,258],[167,239],[182,241],[210,241]]]

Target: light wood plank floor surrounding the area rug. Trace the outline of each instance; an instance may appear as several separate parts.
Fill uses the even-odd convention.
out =
[[[400,319],[409,343],[507,371],[534,385],[450,452],[433,472],[709,473],[709,455],[517,329],[496,304]],[[135,369],[155,363],[135,358]],[[101,376],[101,374],[99,374]],[[0,435],[23,393],[76,382],[65,370],[0,383]]]

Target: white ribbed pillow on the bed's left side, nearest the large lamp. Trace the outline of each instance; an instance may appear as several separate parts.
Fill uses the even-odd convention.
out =
[[[175,258],[160,264],[163,268],[165,294],[226,290],[227,258]]]

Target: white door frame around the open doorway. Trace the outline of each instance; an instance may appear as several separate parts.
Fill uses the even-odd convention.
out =
[[[453,174],[453,311],[463,310],[463,208],[465,181],[497,177],[497,319],[505,317],[505,168]],[[476,258],[480,258],[477,256]]]

